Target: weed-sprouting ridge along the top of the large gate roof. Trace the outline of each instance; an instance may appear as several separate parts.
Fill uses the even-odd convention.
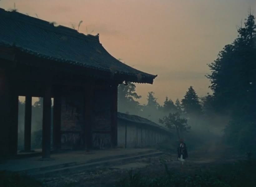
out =
[[[54,22],[49,22],[37,17],[32,17],[17,11],[7,11],[3,8],[0,8],[0,14],[5,14],[6,17],[9,17],[11,19],[16,19],[22,22],[25,22],[26,24],[30,24],[36,27],[40,27],[44,30],[48,30],[51,32],[55,32],[55,33],[59,33],[59,34],[64,34],[67,36],[71,36],[71,37],[77,37],[80,39],[89,39],[92,41],[96,41],[100,43],[99,40],[99,34],[97,35],[85,35],[84,33],[78,32],[75,29],[72,29],[70,27],[66,27],[63,25],[58,25],[58,26],[54,26]]]

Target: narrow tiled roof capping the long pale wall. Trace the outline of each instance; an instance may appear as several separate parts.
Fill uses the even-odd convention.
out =
[[[157,128],[159,130],[164,130],[167,133],[171,133],[170,130],[168,130],[167,128],[160,126],[156,123],[154,123],[153,121],[150,121],[146,118],[140,117],[140,116],[136,116],[136,115],[129,115],[129,114],[125,114],[125,113],[121,113],[121,112],[117,112],[117,118],[121,119],[121,120],[126,120],[126,121],[130,121],[133,123],[139,123],[141,125],[148,125],[154,128]]]

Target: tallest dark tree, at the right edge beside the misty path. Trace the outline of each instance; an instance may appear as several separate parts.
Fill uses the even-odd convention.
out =
[[[249,14],[238,37],[209,64],[214,107],[231,117],[225,129],[227,142],[241,150],[256,144],[256,25]]]

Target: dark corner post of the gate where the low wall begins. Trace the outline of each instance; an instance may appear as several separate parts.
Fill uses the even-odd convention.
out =
[[[113,84],[111,86],[111,90],[112,90],[111,145],[112,145],[112,147],[117,146],[117,87],[118,87],[118,84]]]

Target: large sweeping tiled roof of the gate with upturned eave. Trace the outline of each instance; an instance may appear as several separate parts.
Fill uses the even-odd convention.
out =
[[[153,83],[155,75],[136,70],[111,56],[99,35],[84,35],[64,26],[0,8],[0,45],[40,58],[125,75],[127,80]],[[128,80],[129,79],[129,80]]]

